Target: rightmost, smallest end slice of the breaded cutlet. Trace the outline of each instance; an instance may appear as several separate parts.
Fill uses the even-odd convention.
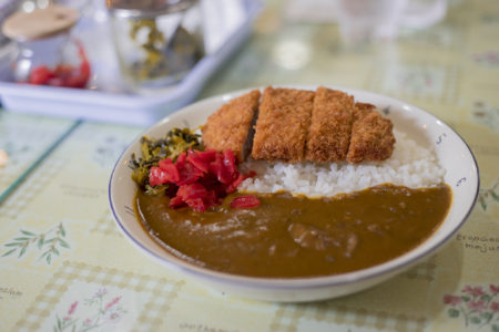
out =
[[[395,148],[393,127],[391,121],[376,112],[374,105],[356,103],[347,162],[388,159]]]

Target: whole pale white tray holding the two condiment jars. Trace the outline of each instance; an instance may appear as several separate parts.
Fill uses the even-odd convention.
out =
[[[216,6],[218,2],[222,6]],[[206,10],[206,4],[210,4],[210,10]],[[116,82],[116,85],[121,87],[123,79],[114,54],[110,21],[91,20],[89,22],[83,15],[72,34],[78,35],[88,51],[92,69],[88,89],[18,84],[12,81],[8,61],[0,61],[1,103],[6,110],[16,113],[151,125],[195,98],[207,80],[226,65],[228,59],[246,42],[253,31],[252,24],[262,7],[263,3],[259,0],[204,1],[203,14],[206,14],[203,15],[203,39],[206,52],[203,59],[176,84],[169,85],[164,92],[152,94],[116,91],[114,85],[110,91],[92,89],[94,77],[99,77],[103,71],[112,77],[111,84]],[[234,9],[237,9],[237,17],[241,17],[241,21],[227,19],[230,18],[227,13],[234,12]],[[221,28],[221,25],[223,27]],[[14,46],[13,44],[10,43]],[[13,49],[10,45],[7,55]],[[105,54],[110,55],[109,58],[92,56],[95,53],[94,50],[101,50],[101,48],[105,50]],[[101,53],[104,52],[99,51],[99,55]],[[1,56],[0,54],[0,59]]]

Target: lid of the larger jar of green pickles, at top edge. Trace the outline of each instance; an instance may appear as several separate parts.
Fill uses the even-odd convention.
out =
[[[105,0],[112,15],[121,18],[152,18],[185,11],[198,0]]]

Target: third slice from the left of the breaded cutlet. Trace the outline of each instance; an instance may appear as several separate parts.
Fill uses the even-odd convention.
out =
[[[316,163],[346,159],[354,122],[354,97],[337,90],[318,87],[314,98],[306,159]]]

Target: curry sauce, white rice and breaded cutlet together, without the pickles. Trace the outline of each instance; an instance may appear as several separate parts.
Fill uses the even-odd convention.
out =
[[[202,267],[269,278],[368,268],[425,241],[451,204],[435,152],[343,92],[253,91],[202,132],[206,147],[234,149],[256,176],[204,212],[169,209],[167,197],[141,190],[135,199],[152,238]],[[258,207],[230,207],[247,193]]]

